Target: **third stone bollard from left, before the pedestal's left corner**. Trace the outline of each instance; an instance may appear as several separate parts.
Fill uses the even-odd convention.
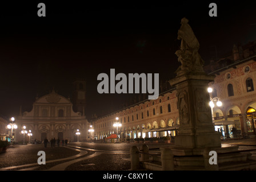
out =
[[[160,148],[162,171],[174,171],[173,152],[170,148]]]

